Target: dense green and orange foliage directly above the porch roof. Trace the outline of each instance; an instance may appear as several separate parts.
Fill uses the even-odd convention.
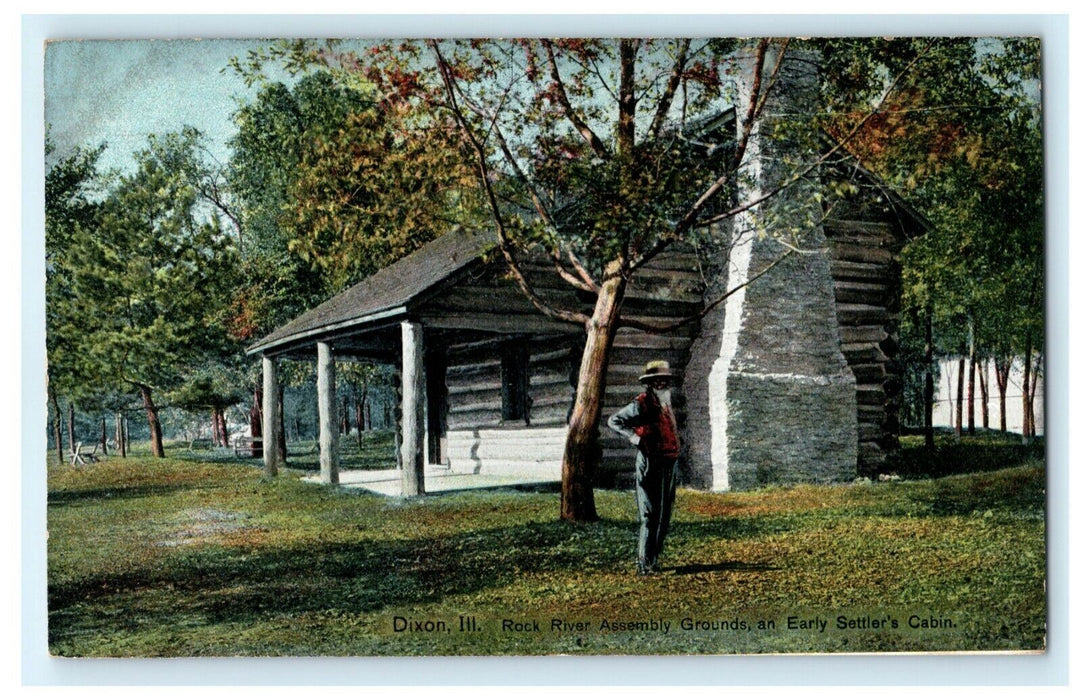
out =
[[[472,184],[454,131],[405,132],[375,100],[356,80],[315,70],[264,85],[234,115],[230,184],[248,238],[239,337],[270,332],[462,220],[449,211],[468,207]]]

